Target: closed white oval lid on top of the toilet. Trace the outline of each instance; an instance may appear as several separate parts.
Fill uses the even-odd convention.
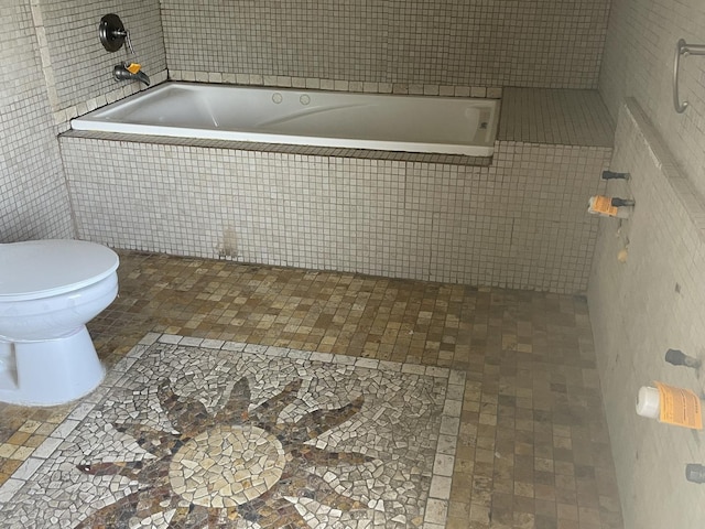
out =
[[[117,270],[110,248],[84,240],[29,240],[0,245],[0,301],[63,294]]]

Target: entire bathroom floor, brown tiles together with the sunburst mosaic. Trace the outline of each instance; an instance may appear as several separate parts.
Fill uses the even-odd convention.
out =
[[[622,527],[584,299],[120,257],[107,382],[0,404],[1,527]]]

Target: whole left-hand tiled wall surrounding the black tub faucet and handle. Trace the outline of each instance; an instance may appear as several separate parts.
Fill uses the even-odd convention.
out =
[[[72,117],[140,89],[110,72],[98,21],[120,14],[153,82],[166,78],[159,1],[11,0],[0,17],[0,240],[70,237],[56,133]],[[55,127],[57,126],[57,127]]]

